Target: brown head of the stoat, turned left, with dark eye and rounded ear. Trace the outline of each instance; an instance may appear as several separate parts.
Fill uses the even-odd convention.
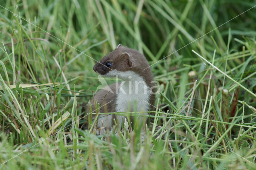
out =
[[[125,72],[132,69],[133,62],[129,54],[130,48],[119,44],[115,50],[104,56],[93,70],[102,76],[114,77],[117,72]]]

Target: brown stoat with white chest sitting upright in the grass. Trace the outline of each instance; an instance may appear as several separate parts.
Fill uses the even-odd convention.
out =
[[[110,84],[107,88],[110,90],[104,88],[96,93],[94,100],[100,103],[100,112],[138,112],[148,115],[144,112],[154,110],[155,81],[146,58],[137,50],[119,44],[95,64],[93,70],[102,76],[122,80]],[[90,102],[92,111],[95,112],[93,99]],[[97,128],[103,122],[103,127],[110,129],[114,125],[114,118],[120,128],[124,116],[113,114],[100,115]]]

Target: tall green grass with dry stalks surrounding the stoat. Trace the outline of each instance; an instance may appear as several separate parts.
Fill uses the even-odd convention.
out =
[[[0,5],[0,169],[256,169],[255,0]],[[157,62],[144,141],[78,128],[119,43]]]

